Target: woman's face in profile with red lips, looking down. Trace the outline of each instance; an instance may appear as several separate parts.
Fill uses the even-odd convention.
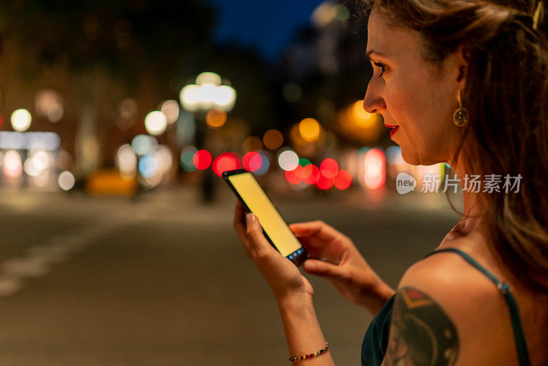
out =
[[[419,32],[389,24],[373,9],[369,18],[367,53],[373,77],[364,108],[384,117],[385,125],[399,126],[392,136],[409,164],[449,162],[462,130],[453,124],[458,90],[466,80],[460,52],[448,56],[438,69],[427,62]]]

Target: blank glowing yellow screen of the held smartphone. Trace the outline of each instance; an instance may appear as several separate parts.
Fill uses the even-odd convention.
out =
[[[301,248],[301,243],[279,215],[269,197],[251,173],[229,175],[228,179],[238,191],[240,197],[256,215],[271,241],[282,256],[288,256]]]

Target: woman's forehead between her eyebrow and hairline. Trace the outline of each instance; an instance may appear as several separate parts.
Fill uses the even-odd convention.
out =
[[[421,47],[419,32],[393,25],[388,16],[373,8],[367,23],[368,52],[375,51],[386,58],[408,58],[419,55]]]

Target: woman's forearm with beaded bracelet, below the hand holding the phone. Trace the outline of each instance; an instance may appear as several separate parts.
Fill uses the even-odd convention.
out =
[[[290,356],[311,354],[325,347],[326,340],[316,317],[312,298],[291,297],[278,300],[279,313],[282,315],[284,331]],[[280,361],[281,363],[281,361]],[[328,350],[314,358],[294,361],[294,365],[327,366],[335,365]]]

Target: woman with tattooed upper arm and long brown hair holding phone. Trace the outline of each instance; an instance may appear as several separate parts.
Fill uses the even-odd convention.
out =
[[[466,215],[434,255],[406,271],[397,292],[347,236],[320,221],[290,225],[311,256],[303,268],[376,315],[364,337],[362,365],[548,365],[542,5],[373,0],[366,8],[374,73],[364,108],[382,114],[387,127],[397,126],[392,138],[406,162],[453,167]],[[493,174],[520,175],[519,190],[465,186],[466,176]],[[275,294],[290,355],[316,352],[297,363],[333,365],[310,282],[240,205],[234,225]]]

